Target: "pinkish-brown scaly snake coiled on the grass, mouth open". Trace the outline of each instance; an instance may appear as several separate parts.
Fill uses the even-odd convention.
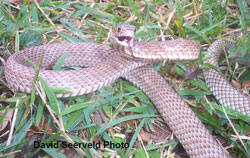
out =
[[[123,77],[144,91],[163,120],[173,131],[190,157],[230,157],[215,140],[193,110],[174,91],[151,63],[162,60],[197,60],[200,47],[194,40],[134,41],[136,27],[119,24],[111,31],[113,47],[87,42],[63,42],[33,46],[12,54],[5,66],[5,78],[13,91],[31,93],[37,70],[27,58],[39,65],[39,71],[49,87],[69,88],[70,93],[56,94],[71,97],[96,91]],[[239,35],[216,40],[208,48],[205,62],[218,66],[218,57],[237,43]],[[63,67],[80,66],[77,70],[52,70],[66,53]],[[237,92],[215,69],[204,70],[208,88],[220,104],[245,115],[250,114],[250,98]]]

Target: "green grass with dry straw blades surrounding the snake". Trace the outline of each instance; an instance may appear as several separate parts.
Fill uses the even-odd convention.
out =
[[[196,3],[172,0],[46,0],[38,3],[28,0],[20,3],[1,1],[0,39],[4,49],[0,59],[4,63],[7,55],[45,43],[70,41],[110,44],[110,28],[119,22],[128,22],[137,27],[136,40],[196,40],[202,49],[199,60],[175,64],[167,62],[154,67],[170,81],[232,156],[247,157],[250,150],[249,117],[236,115],[229,108],[224,111],[207,89],[199,68],[206,67],[203,54],[213,41],[242,30],[245,40],[242,39],[229,56],[222,57],[220,64],[226,77],[233,80],[235,85],[249,85],[249,2],[193,2]],[[232,60],[225,66],[229,59]],[[37,96],[34,93],[13,94],[4,79],[4,65],[0,68],[0,156],[187,156],[183,150],[178,150],[180,145],[173,137],[160,144],[152,141],[142,143],[146,132],[140,131],[157,129],[154,122],[160,116],[153,110],[150,98],[125,80],[118,80],[112,86],[89,95],[56,99],[53,89],[45,81],[41,81],[42,88]],[[197,71],[184,81],[185,72],[192,68]],[[60,69],[60,63],[56,69]],[[77,152],[73,152],[74,149],[68,152],[48,147],[33,149],[35,140],[42,140],[47,144],[58,141],[83,143],[106,140],[128,143],[130,147],[99,150],[81,148]]]

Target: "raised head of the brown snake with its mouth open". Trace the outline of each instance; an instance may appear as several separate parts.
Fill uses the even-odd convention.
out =
[[[133,47],[136,28],[129,24],[119,24],[112,31],[111,39],[115,49],[121,51]]]

